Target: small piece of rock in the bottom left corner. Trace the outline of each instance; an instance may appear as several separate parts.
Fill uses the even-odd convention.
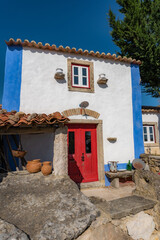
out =
[[[29,240],[27,235],[14,225],[0,219],[0,240]]]

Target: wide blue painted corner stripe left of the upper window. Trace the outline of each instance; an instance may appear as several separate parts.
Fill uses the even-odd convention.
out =
[[[22,46],[9,46],[6,52],[2,107],[19,111],[22,74]]]

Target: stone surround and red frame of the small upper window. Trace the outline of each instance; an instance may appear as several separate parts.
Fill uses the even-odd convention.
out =
[[[94,72],[93,72],[93,63],[89,61],[77,60],[77,59],[67,59],[68,65],[68,90],[76,92],[89,92],[94,93]],[[73,84],[73,72],[72,66],[77,65],[80,67],[88,68],[88,85],[82,86]]]

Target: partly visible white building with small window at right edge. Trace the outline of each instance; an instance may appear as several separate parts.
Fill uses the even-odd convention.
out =
[[[142,106],[145,153],[160,154],[160,106]]]

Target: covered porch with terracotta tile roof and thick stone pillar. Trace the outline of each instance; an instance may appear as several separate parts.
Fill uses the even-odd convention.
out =
[[[51,161],[55,175],[68,175],[68,118],[59,112],[25,114],[0,110],[0,172],[25,169],[27,161]],[[13,150],[26,151],[15,157]]]

